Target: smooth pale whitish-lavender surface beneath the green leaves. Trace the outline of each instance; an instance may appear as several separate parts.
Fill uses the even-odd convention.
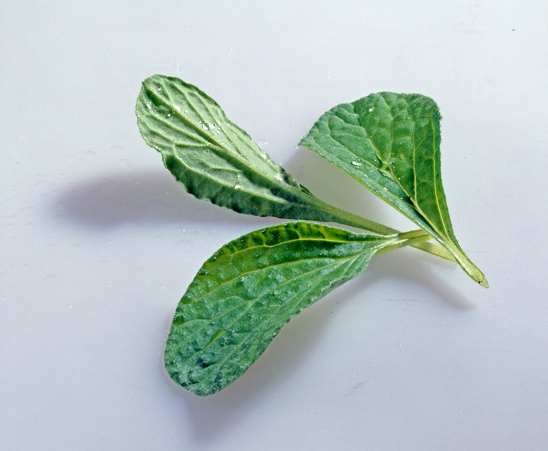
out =
[[[546,3],[296,3],[4,2],[2,449],[546,449]],[[153,73],[213,96],[318,197],[407,230],[296,144],[340,102],[430,95],[454,229],[491,288],[385,254],[225,390],[181,389],[162,361],[180,296],[278,221],[176,184],[136,125]]]

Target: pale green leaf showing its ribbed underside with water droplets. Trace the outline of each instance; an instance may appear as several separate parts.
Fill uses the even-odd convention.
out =
[[[397,230],[329,205],[273,162],[207,94],[179,78],[142,83],[136,113],[147,144],[192,195],[238,213],[332,221],[383,235]],[[443,258],[431,243],[412,246]]]

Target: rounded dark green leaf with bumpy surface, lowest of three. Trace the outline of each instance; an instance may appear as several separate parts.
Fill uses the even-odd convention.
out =
[[[165,368],[198,395],[221,390],[289,319],[363,271],[375,253],[404,244],[402,236],[358,235],[311,222],[256,230],[226,244],[179,302]]]

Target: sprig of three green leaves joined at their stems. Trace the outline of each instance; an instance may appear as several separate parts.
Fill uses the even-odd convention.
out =
[[[225,244],[179,301],[165,368],[198,395],[236,380],[284,324],[362,272],[374,255],[413,246],[458,262],[488,287],[454,235],[440,174],[441,116],[424,95],[383,92],[338,105],[300,142],[420,227],[405,233],[312,195],[212,98],[178,78],[147,78],[136,114],[147,144],[192,195],[238,213],[299,220]]]

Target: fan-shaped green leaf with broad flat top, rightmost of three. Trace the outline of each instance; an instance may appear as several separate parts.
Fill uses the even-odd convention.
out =
[[[370,94],[318,119],[301,145],[343,169],[445,246],[476,282],[487,279],[460,247],[440,172],[439,109],[420,94]]]

